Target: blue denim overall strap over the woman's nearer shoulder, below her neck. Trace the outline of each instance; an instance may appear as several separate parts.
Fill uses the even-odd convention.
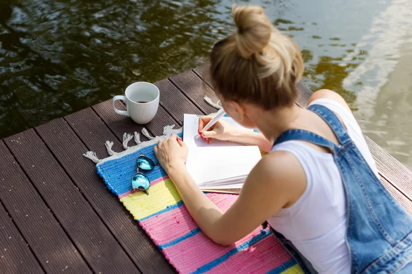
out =
[[[314,134],[313,132],[308,132],[304,129],[290,129],[287,132],[280,134],[279,137],[276,138],[273,146],[289,140],[302,140],[306,142],[312,142],[313,144],[319,145],[321,147],[328,147],[333,151],[338,150],[338,147],[333,142],[330,142],[330,140]]]

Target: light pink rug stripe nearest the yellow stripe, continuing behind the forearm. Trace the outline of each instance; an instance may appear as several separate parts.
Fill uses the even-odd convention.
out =
[[[218,204],[222,211],[226,211],[237,199],[237,195],[227,197],[227,195],[217,193],[209,193],[207,197],[215,204]],[[165,245],[198,227],[185,205],[141,221],[140,225],[150,237],[156,239],[154,240],[156,245]]]

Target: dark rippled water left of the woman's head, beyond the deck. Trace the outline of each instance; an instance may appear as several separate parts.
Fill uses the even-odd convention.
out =
[[[218,3],[1,1],[0,137],[202,64]]]

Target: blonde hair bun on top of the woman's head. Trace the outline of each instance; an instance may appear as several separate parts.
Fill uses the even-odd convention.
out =
[[[271,40],[272,25],[263,8],[258,5],[234,7],[232,10],[238,32],[236,46],[243,58],[260,53]]]

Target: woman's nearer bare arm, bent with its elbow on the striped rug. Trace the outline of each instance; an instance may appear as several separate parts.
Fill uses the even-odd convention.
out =
[[[231,245],[262,224],[290,202],[290,187],[299,181],[299,162],[285,151],[274,151],[251,171],[233,206],[223,213],[193,181],[184,161],[179,161],[184,143],[176,136],[159,142],[157,159],[174,182],[187,210],[202,231],[220,245]],[[183,157],[184,158],[184,157]],[[180,159],[183,159],[180,158]],[[300,182],[301,183],[301,182]]]

